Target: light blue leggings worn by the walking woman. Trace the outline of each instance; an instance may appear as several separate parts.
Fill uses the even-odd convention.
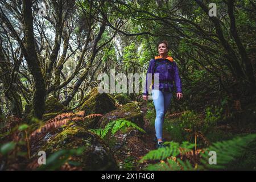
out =
[[[164,115],[170,106],[171,98],[171,92],[162,92],[160,90],[152,89],[152,99],[156,110],[155,133],[157,139],[162,139]]]

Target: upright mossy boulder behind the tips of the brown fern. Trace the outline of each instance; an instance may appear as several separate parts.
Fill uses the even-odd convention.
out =
[[[85,115],[89,114],[106,114],[109,111],[116,109],[115,100],[110,94],[98,93],[97,88],[93,88],[90,93],[83,98],[80,110],[85,111]],[[83,125],[89,129],[95,128],[99,121],[99,117],[85,119]]]

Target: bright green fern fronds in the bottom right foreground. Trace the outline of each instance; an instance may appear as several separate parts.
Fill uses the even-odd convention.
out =
[[[177,159],[176,161],[171,160],[170,158],[176,157],[179,152],[179,148],[186,148],[184,152],[189,151],[193,148],[193,144],[188,142],[183,142],[181,145],[176,142],[168,142],[167,147],[159,148],[158,150],[153,150],[148,152],[142,160],[164,160],[166,158],[167,162],[150,164],[146,169],[147,170],[209,170],[209,169],[228,169],[232,162],[236,161],[238,158],[245,154],[248,147],[251,144],[256,144],[256,134],[249,134],[244,137],[236,137],[231,140],[216,142],[212,146],[204,149],[205,151],[201,154],[200,164],[192,164],[189,160]],[[217,164],[210,165],[208,160],[210,158],[209,151],[215,151],[217,154]]]

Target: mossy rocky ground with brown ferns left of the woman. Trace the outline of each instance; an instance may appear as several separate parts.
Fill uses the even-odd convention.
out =
[[[64,154],[67,155],[70,154],[69,151],[80,147],[85,147],[85,150],[80,155],[72,155],[70,158],[73,162],[82,164],[80,167],[65,163],[62,166],[58,164],[61,167],[56,168],[57,162],[53,160],[52,166],[46,169],[143,170],[148,164],[158,162],[139,163],[147,152],[156,149],[154,125],[144,117],[148,110],[146,102],[132,102],[124,96],[113,98],[109,94],[98,93],[97,88],[87,94],[83,102],[80,108],[67,113],[67,108],[51,98],[47,101],[47,112],[43,121],[32,121],[32,109],[28,107],[27,117],[7,122],[9,124],[1,130],[1,140],[3,143],[13,141],[17,144],[8,156],[0,155],[1,168],[38,169],[38,151],[46,151],[48,157],[55,154],[56,161],[59,161],[62,158],[57,158],[57,155],[60,155],[58,151],[66,152]],[[129,127],[126,131],[117,131],[109,140],[103,140],[91,131],[104,129],[108,123],[117,119],[135,123],[146,133]],[[29,125],[26,135],[18,129],[24,122]],[[165,131],[163,137],[171,140],[170,134]],[[24,155],[20,155],[21,152]]]

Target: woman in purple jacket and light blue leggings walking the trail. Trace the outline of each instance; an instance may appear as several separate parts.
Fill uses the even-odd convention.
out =
[[[168,42],[162,41],[158,44],[158,53],[159,56],[155,56],[155,59],[150,61],[147,74],[151,73],[154,76],[154,73],[158,73],[159,83],[158,85],[154,84],[152,81],[152,99],[154,102],[156,110],[155,118],[155,133],[157,140],[156,147],[161,148],[163,145],[163,122],[164,115],[166,114],[168,107],[171,103],[172,90],[174,88],[173,81],[176,86],[176,97],[180,100],[183,97],[182,94],[182,84],[179,76],[179,70],[177,64],[171,56],[168,56]],[[147,76],[146,76],[146,86],[143,93],[143,100],[148,100],[148,88],[147,88]],[[154,78],[153,78],[154,80]],[[155,89],[154,89],[155,86]],[[156,89],[158,88],[158,89]]]

